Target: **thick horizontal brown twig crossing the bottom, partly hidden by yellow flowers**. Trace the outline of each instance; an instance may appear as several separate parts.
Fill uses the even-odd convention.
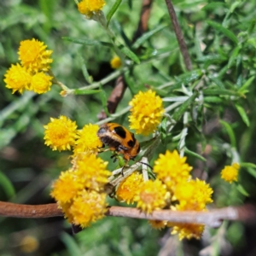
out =
[[[63,213],[57,207],[57,204],[29,206],[0,201],[0,216],[15,218],[49,218],[62,216]],[[208,212],[179,212],[172,210],[154,211],[146,214],[131,207],[109,207],[107,216],[126,217],[126,218],[144,218],[167,220],[174,223],[193,223],[206,224],[217,228],[222,220],[256,221],[256,207],[246,205],[242,207],[225,207],[210,210]]]

